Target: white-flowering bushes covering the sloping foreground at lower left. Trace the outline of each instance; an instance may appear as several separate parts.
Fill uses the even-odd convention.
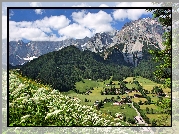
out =
[[[10,71],[9,91],[10,126],[127,125],[15,71]]]

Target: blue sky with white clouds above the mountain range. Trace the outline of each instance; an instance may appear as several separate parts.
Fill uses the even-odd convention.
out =
[[[58,6],[59,4],[24,2],[31,7]],[[93,2],[94,4],[94,2]],[[3,3],[12,6],[13,3]],[[78,7],[93,6],[88,3],[68,3],[62,6],[75,6],[77,9],[12,9],[9,14],[9,40],[60,41],[68,38],[82,39],[92,37],[95,33],[120,30],[129,21],[152,17],[144,9],[78,9]],[[153,6],[141,2],[143,7]],[[14,4],[17,6],[17,3]],[[21,5],[22,6],[22,5]],[[99,7],[137,7],[136,2],[98,3]],[[20,7],[20,6],[19,6]],[[5,15],[5,14],[4,14]],[[4,34],[3,34],[4,35]]]

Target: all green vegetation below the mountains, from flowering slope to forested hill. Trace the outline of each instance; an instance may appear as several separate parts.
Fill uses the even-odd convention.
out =
[[[154,17],[160,18],[163,12],[170,13],[156,10]],[[160,21],[163,25],[170,24],[163,18]],[[147,47],[143,42],[144,56],[137,67],[125,62],[121,53],[124,44],[116,44],[106,50],[105,59],[104,53],[68,46],[20,66],[18,73],[22,76],[11,71],[10,125],[120,126],[127,125],[126,121],[135,125],[137,113],[131,107],[133,102],[146,123],[168,126],[171,116],[171,98],[166,98],[171,93],[170,31],[164,38],[165,50]],[[153,49],[152,55],[149,49]],[[153,55],[157,62],[153,61]],[[161,86],[164,82],[168,88]],[[114,106],[114,102],[118,105]],[[122,118],[114,119],[116,114],[121,114]],[[150,119],[151,115],[159,115],[159,118]]]

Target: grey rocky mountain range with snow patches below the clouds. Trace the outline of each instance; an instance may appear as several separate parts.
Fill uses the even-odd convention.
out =
[[[58,51],[66,46],[75,45],[81,50],[105,53],[107,49],[117,46],[125,61],[137,65],[144,55],[144,49],[153,46],[163,49],[162,34],[164,28],[160,23],[151,18],[140,19],[126,23],[122,30],[114,30],[106,33],[96,33],[92,38],[66,39],[64,41],[22,41],[9,42],[9,62],[12,65],[21,65],[40,55],[52,51]],[[121,55],[119,54],[119,55]],[[116,57],[121,58],[121,57]]]

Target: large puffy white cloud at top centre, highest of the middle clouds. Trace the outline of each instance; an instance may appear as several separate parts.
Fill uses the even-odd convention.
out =
[[[94,33],[108,32],[113,30],[111,23],[113,21],[110,14],[104,11],[98,13],[90,13],[80,11],[72,13],[73,20],[79,25],[89,28]]]

